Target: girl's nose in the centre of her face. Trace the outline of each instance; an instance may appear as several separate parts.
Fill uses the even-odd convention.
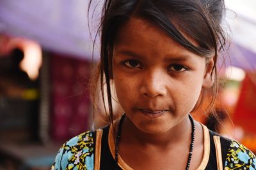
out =
[[[162,71],[145,71],[141,79],[140,94],[154,98],[166,95],[166,78]]]

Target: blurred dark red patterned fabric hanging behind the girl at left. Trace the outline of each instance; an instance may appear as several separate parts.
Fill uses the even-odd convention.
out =
[[[88,131],[90,62],[74,57],[51,58],[51,134],[54,141],[65,141]]]

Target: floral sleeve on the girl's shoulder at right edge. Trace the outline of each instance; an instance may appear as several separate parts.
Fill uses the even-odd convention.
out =
[[[256,169],[255,155],[235,140],[231,140],[225,159],[225,170],[231,169]]]

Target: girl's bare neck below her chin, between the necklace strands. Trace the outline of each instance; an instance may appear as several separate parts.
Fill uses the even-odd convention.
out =
[[[174,146],[191,141],[191,122],[189,117],[185,117],[179,124],[169,131],[161,134],[147,134],[141,132],[128,117],[125,117],[120,141],[128,141],[131,145],[140,147],[163,148]],[[129,140],[127,140],[129,139]]]

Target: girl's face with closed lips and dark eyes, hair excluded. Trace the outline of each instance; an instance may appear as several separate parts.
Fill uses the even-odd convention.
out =
[[[145,20],[131,18],[117,34],[113,49],[116,95],[142,132],[159,134],[179,124],[194,108],[202,87],[211,87],[210,74],[204,57]]]

